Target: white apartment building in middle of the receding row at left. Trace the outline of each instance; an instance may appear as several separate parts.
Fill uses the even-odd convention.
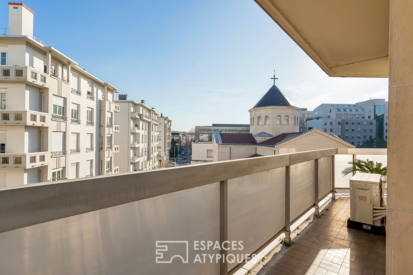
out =
[[[156,169],[157,161],[157,126],[158,113],[154,108],[134,100],[127,100],[127,94],[120,94],[115,102],[120,106],[120,113],[115,114],[115,121],[122,129],[115,133],[119,141],[119,154],[115,155],[119,172],[133,172]],[[127,131],[126,131],[127,130]]]

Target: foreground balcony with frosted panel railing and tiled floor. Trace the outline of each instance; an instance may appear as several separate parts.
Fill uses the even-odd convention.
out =
[[[261,260],[279,243],[279,237],[285,233],[294,236],[291,231],[297,226],[302,230],[304,226],[300,224],[328,202],[335,195],[334,190],[349,188],[351,175],[341,174],[349,166],[347,161],[368,158],[386,165],[386,153],[386,149],[333,148],[2,188],[0,240],[8,244],[2,268],[16,270],[26,262],[44,263],[59,255],[59,259],[68,261],[88,257],[84,268],[98,270],[102,268],[102,254],[95,251],[99,250],[111,255],[105,257],[104,263],[111,270],[128,266],[130,270],[139,268],[142,274],[200,274],[205,270],[216,275],[237,271],[246,274],[254,263],[200,264],[194,263],[195,255],[219,253],[236,257],[267,251],[257,256],[256,260]],[[337,268],[326,261],[341,261],[338,265],[343,267],[347,264],[348,273],[340,274],[350,274],[351,269],[362,273],[359,269],[367,271],[366,267],[371,273],[372,264],[376,270],[382,270],[382,238],[347,230],[346,200],[348,197],[337,195],[329,210],[321,210],[324,215],[314,218],[313,225],[299,234],[300,239],[294,238],[296,243],[292,247],[282,248],[290,256],[266,263],[259,274],[282,268],[283,272],[290,270],[286,274],[293,274],[299,271],[296,267],[308,269],[309,273],[321,267],[326,270],[319,271],[326,274],[328,268]],[[79,244],[76,249],[56,245],[64,243],[67,236],[50,232],[63,227],[76,228],[71,233],[71,242]],[[14,240],[23,236],[25,242],[17,245]],[[167,241],[171,236],[190,244],[188,263],[155,263],[156,241]],[[243,249],[196,251],[194,241],[199,240],[242,241]],[[36,253],[42,247],[45,252]],[[50,247],[55,249],[48,250]],[[142,251],[142,247],[153,247],[153,253]],[[182,247],[174,249],[178,252],[172,255],[185,251]],[[25,258],[14,256],[24,251]],[[359,266],[361,262],[364,267]],[[291,265],[295,265],[294,271],[289,269]],[[36,266],[36,273],[48,273],[51,269],[77,272],[77,266],[48,261],[47,265]],[[273,270],[271,274],[280,271]]]

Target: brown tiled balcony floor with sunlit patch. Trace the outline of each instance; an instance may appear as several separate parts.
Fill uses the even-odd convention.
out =
[[[257,274],[384,275],[385,237],[347,228],[348,196],[337,198],[325,209],[299,239],[293,239],[295,244],[280,261],[268,261]]]

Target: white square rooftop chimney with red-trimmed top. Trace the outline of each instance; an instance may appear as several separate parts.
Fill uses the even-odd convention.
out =
[[[23,2],[9,3],[9,35],[33,38],[33,14]]]

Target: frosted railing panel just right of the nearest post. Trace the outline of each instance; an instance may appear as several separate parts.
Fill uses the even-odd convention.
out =
[[[285,227],[285,167],[228,180],[228,240],[252,254]],[[228,270],[237,263],[228,263]]]

